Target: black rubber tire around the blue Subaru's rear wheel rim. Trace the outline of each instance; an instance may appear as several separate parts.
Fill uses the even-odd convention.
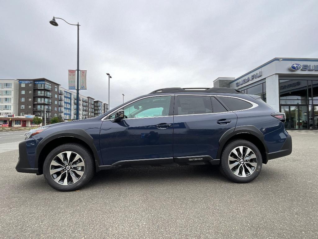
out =
[[[238,161],[238,164],[236,164],[237,166],[232,168],[233,171],[238,173],[238,176],[237,176],[230,169],[229,156],[230,156],[230,154],[231,154],[231,156],[234,156],[231,152],[232,152],[232,150],[236,149],[239,146],[243,146],[243,156],[241,158],[245,159],[245,157],[244,157],[245,154],[244,153],[247,152],[247,148],[250,148],[252,150],[253,155],[256,156],[257,163],[254,163],[253,161],[251,161],[253,163],[253,165],[256,166],[256,167],[253,167],[249,162],[240,163],[240,161],[237,160]],[[252,155],[252,153],[251,153],[251,155]],[[255,161],[255,159],[253,159],[253,160]],[[236,161],[231,161],[231,163],[232,162],[236,163]],[[247,169],[247,166],[248,166],[249,169]],[[236,169],[239,169],[239,171],[243,171],[244,170],[244,174],[245,174],[245,171],[246,171],[247,173],[245,175],[250,173],[250,170],[252,170],[252,169],[254,169],[254,170],[252,170],[252,173],[250,173],[249,175],[244,177],[243,172],[241,174],[239,174],[239,172],[236,171]],[[251,143],[250,141],[243,140],[243,139],[237,139],[237,140],[234,140],[234,141],[230,141],[223,148],[223,151],[222,151],[222,154],[221,154],[220,170],[221,170],[221,173],[225,177],[230,179],[231,181],[236,182],[236,183],[248,183],[248,182],[251,182],[259,175],[261,169],[262,169],[262,155],[259,152],[259,149],[253,143]]]

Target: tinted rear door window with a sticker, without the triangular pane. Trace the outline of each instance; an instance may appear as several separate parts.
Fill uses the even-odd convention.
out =
[[[176,115],[212,113],[210,96],[178,96]]]

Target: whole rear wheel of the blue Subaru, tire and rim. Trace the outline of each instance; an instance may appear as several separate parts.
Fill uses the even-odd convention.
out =
[[[250,141],[234,140],[222,151],[220,169],[233,182],[248,183],[254,180],[262,169],[262,155]]]

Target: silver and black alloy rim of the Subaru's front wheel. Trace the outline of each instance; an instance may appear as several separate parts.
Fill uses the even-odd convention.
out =
[[[50,175],[61,185],[77,183],[84,174],[83,158],[72,151],[65,151],[55,156],[50,164]]]

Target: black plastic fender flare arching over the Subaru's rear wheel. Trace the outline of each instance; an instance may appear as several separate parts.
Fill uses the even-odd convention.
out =
[[[265,148],[265,153],[267,154],[268,148],[267,148],[265,140],[264,140],[264,134],[262,134],[262,132],[258,128],[256,128],[255,126],[246,125],[246,126],[238,126],[238,127],[231,128],[231,129],[227,130],[221,136],[221,138],[219,139],[219,148],[218,148],[218,153],[217,153],[218,159],[221,157],[221,153],[222,153],[222,150],[223,150],[225,143],[230,138],[232,138],[234,135],[242,134],[242,133],[252,134],[253,136],[256,136],[262,142],[262,144]]]

